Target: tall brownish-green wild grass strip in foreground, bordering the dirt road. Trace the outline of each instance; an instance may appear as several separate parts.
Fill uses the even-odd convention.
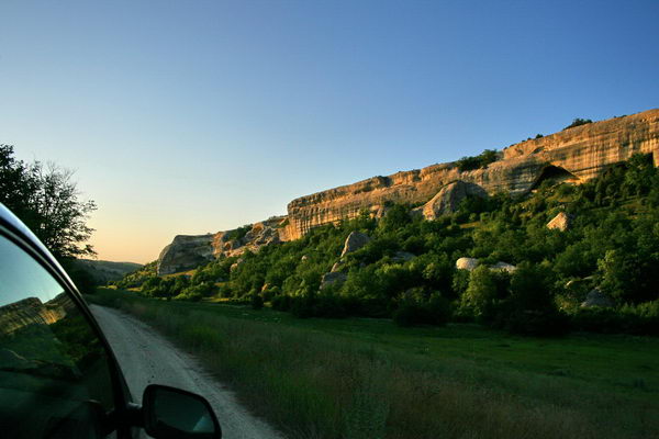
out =
[[[114,303],[197,354],[289,438],[659,437],[657,404],[560,376],[428,361],[158,301]]]

